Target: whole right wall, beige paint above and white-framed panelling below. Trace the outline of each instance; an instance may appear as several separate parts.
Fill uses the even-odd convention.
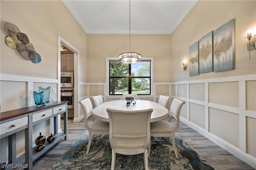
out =
[[[190,45],[231,19],[235,19],[235,70],[189,76]],[[186,101],[182,121],[254,168],[256,50],[249,61],[244,27],[255,23],[255,0],[199,0],[171,34],[170,67],[171,97]]]

